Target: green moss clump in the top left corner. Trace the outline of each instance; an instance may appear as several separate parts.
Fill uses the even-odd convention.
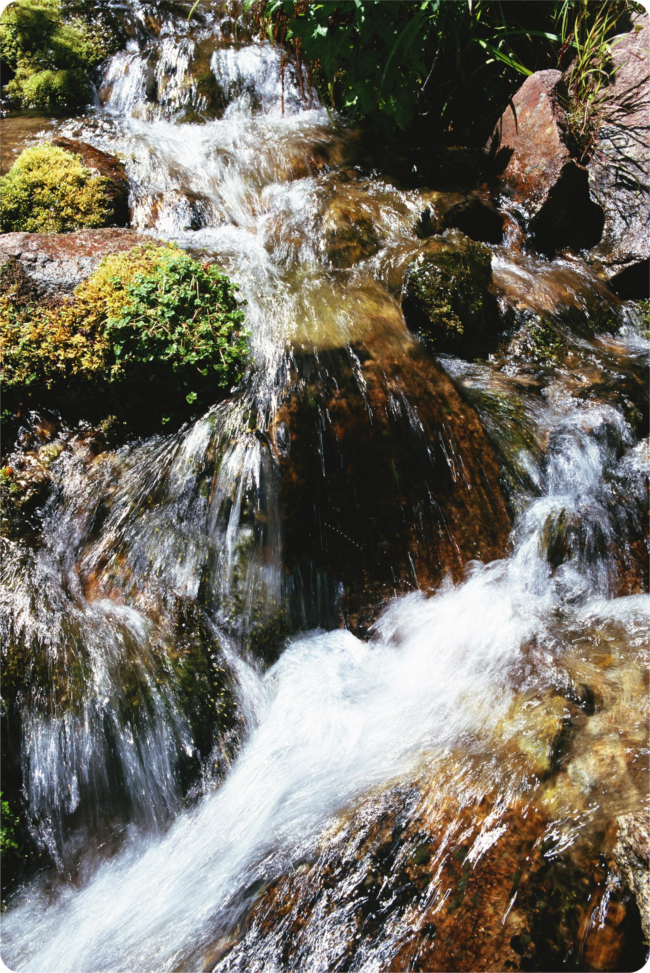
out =
[[[92,98],[89,72],[115,49],[97,18],[66,16],[61,0],[17,0],[0,18],[0,54],[14,77],[10,104],[45,111]]]

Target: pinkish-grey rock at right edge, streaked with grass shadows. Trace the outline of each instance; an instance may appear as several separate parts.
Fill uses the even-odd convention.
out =
[[[643,298],[650,286],[650,21],[637,18],[612,42],[616,67],[605,92],[590,162],[592,198],[602,208],[602,238],[591,256],[622,297]]]

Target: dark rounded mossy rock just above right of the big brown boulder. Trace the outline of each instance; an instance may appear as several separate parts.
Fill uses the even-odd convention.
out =
[[[436,351],[465,357],[497,324],[488,247],[457,230],[431,237],[409,265],[402,307],[407,324]]]

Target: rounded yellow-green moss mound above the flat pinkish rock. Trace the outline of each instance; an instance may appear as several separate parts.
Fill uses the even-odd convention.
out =
[[[0,179],[2,233],[59,234],[105,227],[112,216],[106,183],[79,156],[54,145],[25,149]]]

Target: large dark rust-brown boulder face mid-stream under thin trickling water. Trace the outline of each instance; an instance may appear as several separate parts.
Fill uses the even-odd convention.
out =
[[[464,576],[502,557],[510,524],[474,411],[405,331],[297,361],[272,430],[285,563],[343,582],[343,613],[365,631],[399,590]],[[406,579],[406,580],[405,580]]]

